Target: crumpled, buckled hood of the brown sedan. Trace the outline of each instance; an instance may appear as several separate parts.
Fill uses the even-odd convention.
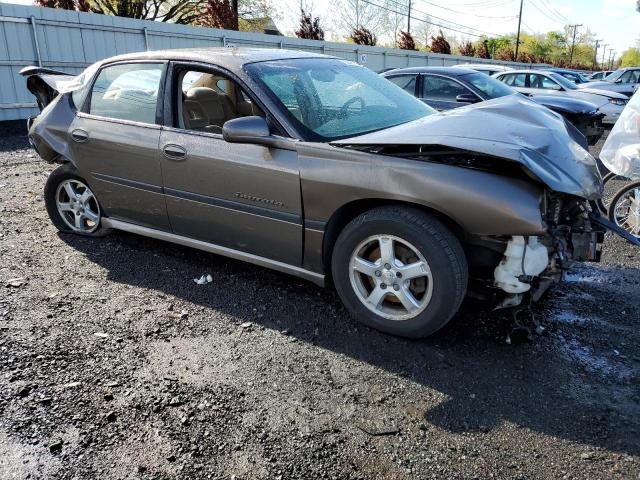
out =
[[[595,159],[557,113],[509,95],[377,132],[332,142],[347,145],[440,145],[524,165],[551,190],[595,200],[602,179]]]

